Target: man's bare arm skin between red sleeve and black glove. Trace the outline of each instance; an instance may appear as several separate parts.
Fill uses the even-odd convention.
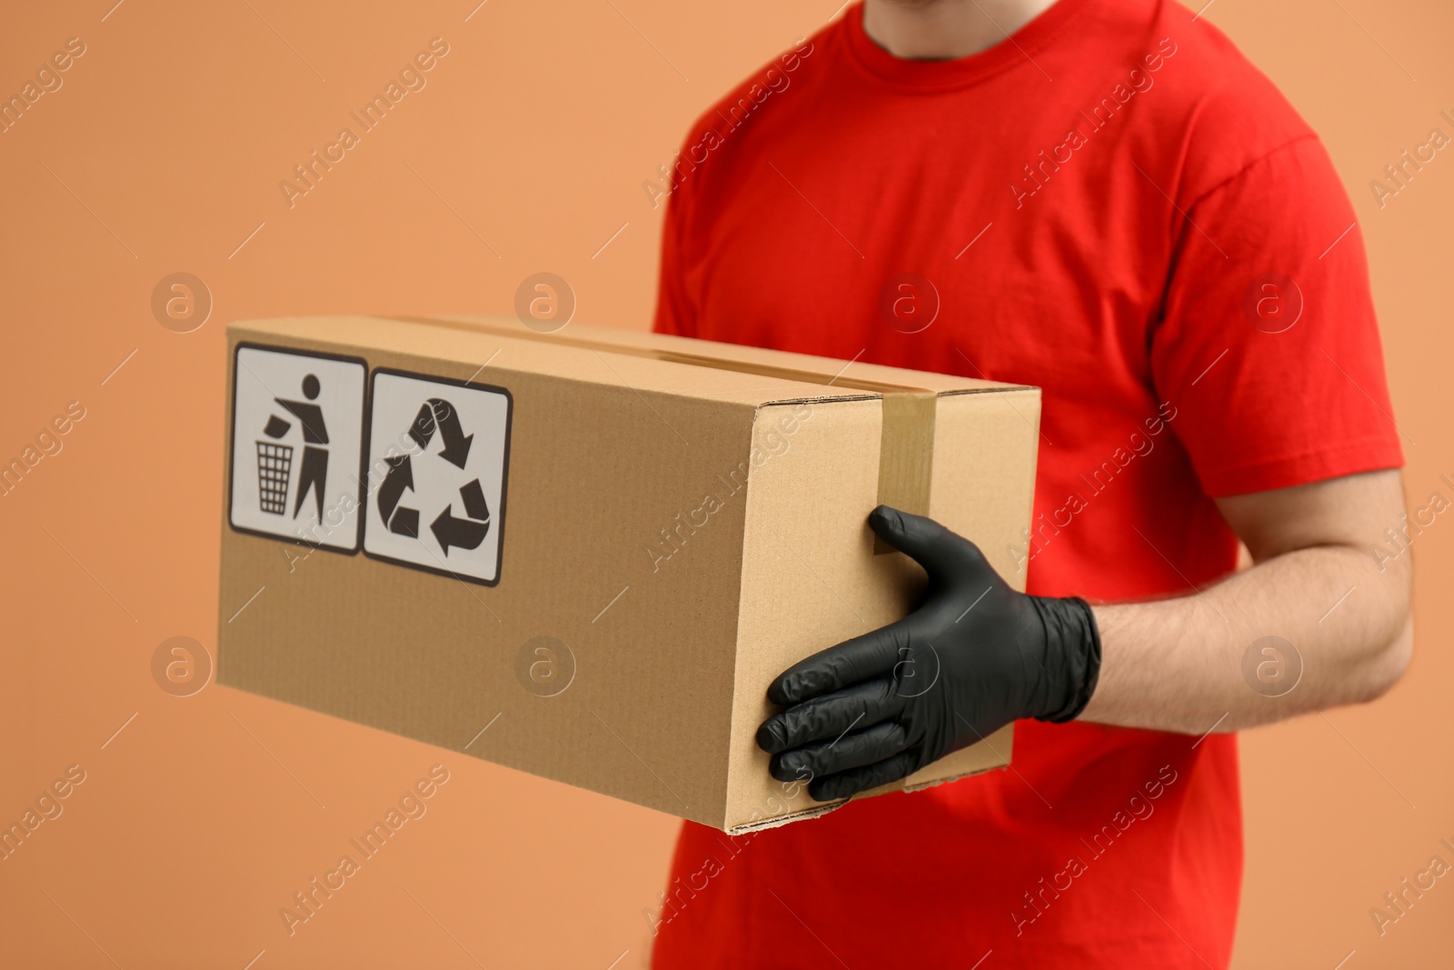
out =
[[[1403,675],[1413,649],[1409,556],[1374,554],[1403,513],[1397,471],[1217,505],[1255,566],[1189,596],[1095,606],[1101,682],[1080,720],[1234,731],[1371,701]],[[1291,643],[1303,668],[1277,697],[1281,688],[1259,691],[1243,676],[1243,654],[1269,636]]]

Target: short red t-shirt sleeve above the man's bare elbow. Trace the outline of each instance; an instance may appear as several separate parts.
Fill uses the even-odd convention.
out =
[[[1348,193],[1313,135],[1178,201],[1152,378],[1211,496],[1403,464]]]

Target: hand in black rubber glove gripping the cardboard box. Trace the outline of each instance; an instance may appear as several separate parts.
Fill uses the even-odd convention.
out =
[[[933,519],[874,509],[868,525],[929,576],[919,608],[795,663],[768,688],[788,705],[758,729],[779,781],[819,801],[903,778],[1022,717],[1069,721],[1101,672],[1083,599],[1011,589],[979,547]]]

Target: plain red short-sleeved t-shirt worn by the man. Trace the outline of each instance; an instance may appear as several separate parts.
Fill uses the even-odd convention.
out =
[[[1040,595],[1185,593],[1234,567],[1211,496],[1402,464],[1328,154],[1172,3],[938,63],[849,7],[689,132],[656,326],[1044,388]],[[659,967],[1223,967],[1236,737],[1021,721],[1013,771],[688,823],[672,877]]]

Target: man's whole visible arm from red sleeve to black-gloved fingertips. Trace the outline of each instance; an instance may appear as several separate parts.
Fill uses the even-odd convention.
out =
[[[829,801],[1028,717],[1204,734],[1387,691],[1412,643],[1407,557],[1374,554],[1403,510],[1399,473],[1220,508],[1252,550],[1252,569],[1188,596],[1092,606],[1011,589],[974,542],[878,506],[868,525],[925,570],[923,601],[768,686],[784,708],[758,729],[772,777],[811,778],[808,794]],[[1258,663],[1275,663],[1261,654],[1262,637],[1284,638],[1301,657],[1291,691],[1256,678]],[[1284,650],[1285,663],[1293,650]]]

